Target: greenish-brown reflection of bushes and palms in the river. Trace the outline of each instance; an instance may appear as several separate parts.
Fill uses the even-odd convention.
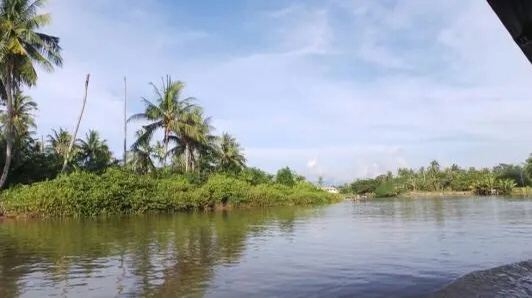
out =
[[[5,221],[0,224],[0,297],[26,290],[34,277],[54,288],[72,280],[98,283],[109,266],[115,293],[201,294],[216,265],[236,262],[246,239],[277,227],[293,233],[293,208],[153,215],[97,220]],[[103,266],[103,267],[102,267]],[[103,277],[106,278],[106,277]],[[79,280],[78,280],[79,282]],[[109,282],[107,280],[106,282]],[[134,284],[135,288],[128,285]],[[47,284],[46,286],[49,286]],[[87,286],[88,288],[88,286]],[[62,294],[68,294],[65,292]]]

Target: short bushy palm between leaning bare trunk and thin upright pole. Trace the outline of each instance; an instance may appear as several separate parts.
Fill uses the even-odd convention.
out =
[[[111,152],[107,141],[102,140],[95,130],[89,130],[85,140],[79,140],[79,161],[89,171],[99,171],[111,162]]]

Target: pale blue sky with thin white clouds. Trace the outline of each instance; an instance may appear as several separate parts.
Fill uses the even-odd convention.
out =
[[[532,66],[486,1],[50,0],[64,65],[29,90],[38,135],[75,124],[122,154],[165,75],[251,166],[330,183],[401,167],[488,167],[532,152]],[[140,124],[129,125],[129,141]]]

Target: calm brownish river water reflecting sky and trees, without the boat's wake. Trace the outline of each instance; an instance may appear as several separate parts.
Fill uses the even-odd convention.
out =
[[[0,297],[426,296],[530,258],[526,199],[4,220]]]

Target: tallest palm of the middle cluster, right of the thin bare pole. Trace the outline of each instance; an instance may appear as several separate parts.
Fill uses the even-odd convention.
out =
[[[158,88],[154,83],[150,83],[155,94],[155,103],[142,98],[146,105],[143,113],[131,116],[128,121],[145,120],[150,123],[143,126],[143,135],[139,136],[137,142],[150,141],[153,134],[163,131],[163,144],[165,155],[168,152],[168,143],[170,141],[170,130],[172,126],[177,126],[182,116],[190,111],[195,105],[192,104],[194,98],[188,97],[181,99],[181,92],[184,84],[181,81],[172,81],[170,76],[162,80],[161,87]],[[133,147],[136,145],[133,144]],[[163,161],[166,165],[166,158]]]

